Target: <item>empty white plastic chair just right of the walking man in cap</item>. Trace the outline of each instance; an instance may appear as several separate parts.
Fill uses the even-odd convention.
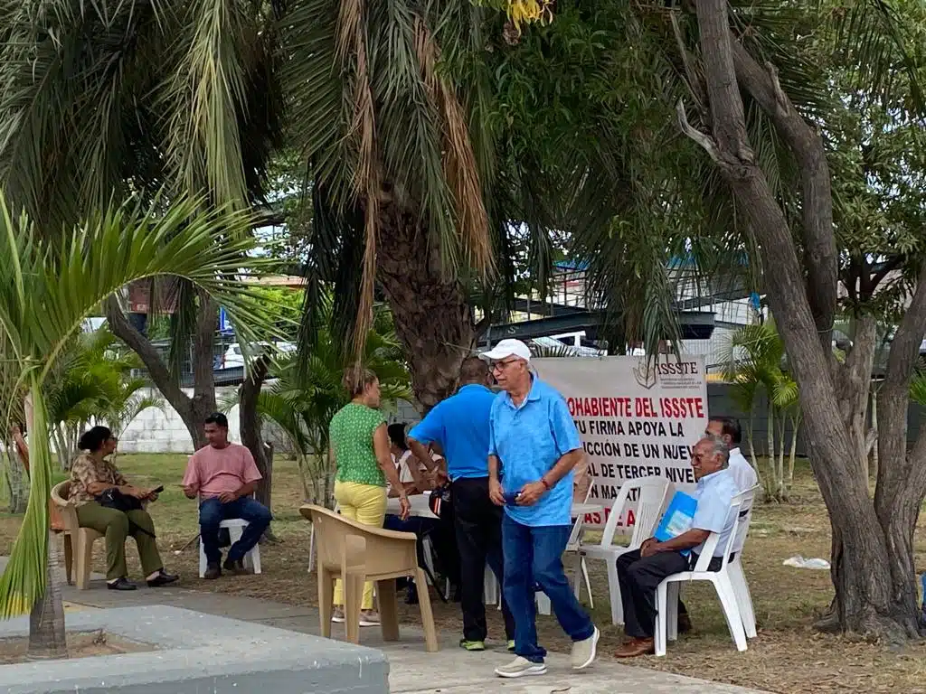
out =
[[[659,516],[662,514],[662,507],[666,502],[667,492],[669,491],[669,480],[665,477],[639,477],[624,482],[620,486],[618,496],[611,503],[611,511],[607,516],[607,524],[601,536],[601,542],[598,544],[579,545],[579,553],[582,556],[582,570],[585,572],[585,587],[592,593],[588,585],[588,569],[585,566],[585,559],[602,559],[607,564],[607,591],[611,599],[611,624],[619,625],[624,623],[624,608],[620,602],[620,584],[618,581],[618,557],[628,551],[640,549],[644,539],[653,537],[656,530]],[[630,544],[626,547],[615,545],[614,534],[618,528],[618,521],[623,516],[628,507],[632,490],[637,492],[637,508],[633,520],[633,534]],[[578,572],[574,582],[576,598],[579,598],[581,585],[579,583]]]

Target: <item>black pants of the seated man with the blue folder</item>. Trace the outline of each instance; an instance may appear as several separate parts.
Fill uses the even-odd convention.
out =
[[[723,557],[714,557],[708,571],[720,571]],[[620,602],[624,607],[624,633],[636,638],[653,638],[656,631],[656,589],[663,579],[688,571],[697,563],[697,554],[684,557],[677,551],[666,551],[649,557],[639,550],[618,557]],[[679,600],[679,613],[685,613]]]

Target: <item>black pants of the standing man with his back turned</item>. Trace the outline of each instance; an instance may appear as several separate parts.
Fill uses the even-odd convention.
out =
[[[485,564],[488,562],[498,579],[505,585],[502,562],[502,509],[489,499],[489,478],[455,479],[451,487],[454,501],[454,521],[457,528],[457,548],[460,558],[461,607],[463,608],[463,638],[484,641],[486,637]],[[515,638],[515,620],[502,598],[505,636]]]

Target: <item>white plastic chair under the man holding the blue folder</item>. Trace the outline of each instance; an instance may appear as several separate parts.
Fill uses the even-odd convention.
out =
[[[737,651],[746,650],[745,622],[747,619],[750,625],[749,630],[755,636],[756,619],[753,616],[752,600],[749,597],[749,589],[745,585],[743,569],[741,566],[732,571],[730,569],[731,564],[740,563],[740,554],[745,545],[745,537],[752,516],[754,495],[755,490],[746,490],[733,497],[730,507],[733,514],[733,528],[730,538],[727,539],[727,546],[723,548],[720,570],[707,570],[711,559],[714,557],[714,552],[717,550],[717,543],[720,541],[718,533],[711,533],[704,544],[704,550],[701,551],[701,555],[698,557],[697,564],[694,565],[694,570],[672,574],[672,576],[666,577],[659,584],[656,591],[657,614],[654,644],[657,655],[665,655],[666,641],[674,641],[678,637],[679,588],[682,583],[689,581],[710,581],[713,584],[714,589],[717,590],[723,616],[727,620],[727,626],[730,628]],[[740,515],[741,508],[746,509],[742,517]],[[739,549],[737,550],[737,548]],[[736,557],[731,562],[730,555],[734,551]],[[733,578],[734,573],[738,574],[735,579]],[[740,608],[740,605],[745,605],[746,601],[748,601],[748,617],[745,616],[745,611]]]

